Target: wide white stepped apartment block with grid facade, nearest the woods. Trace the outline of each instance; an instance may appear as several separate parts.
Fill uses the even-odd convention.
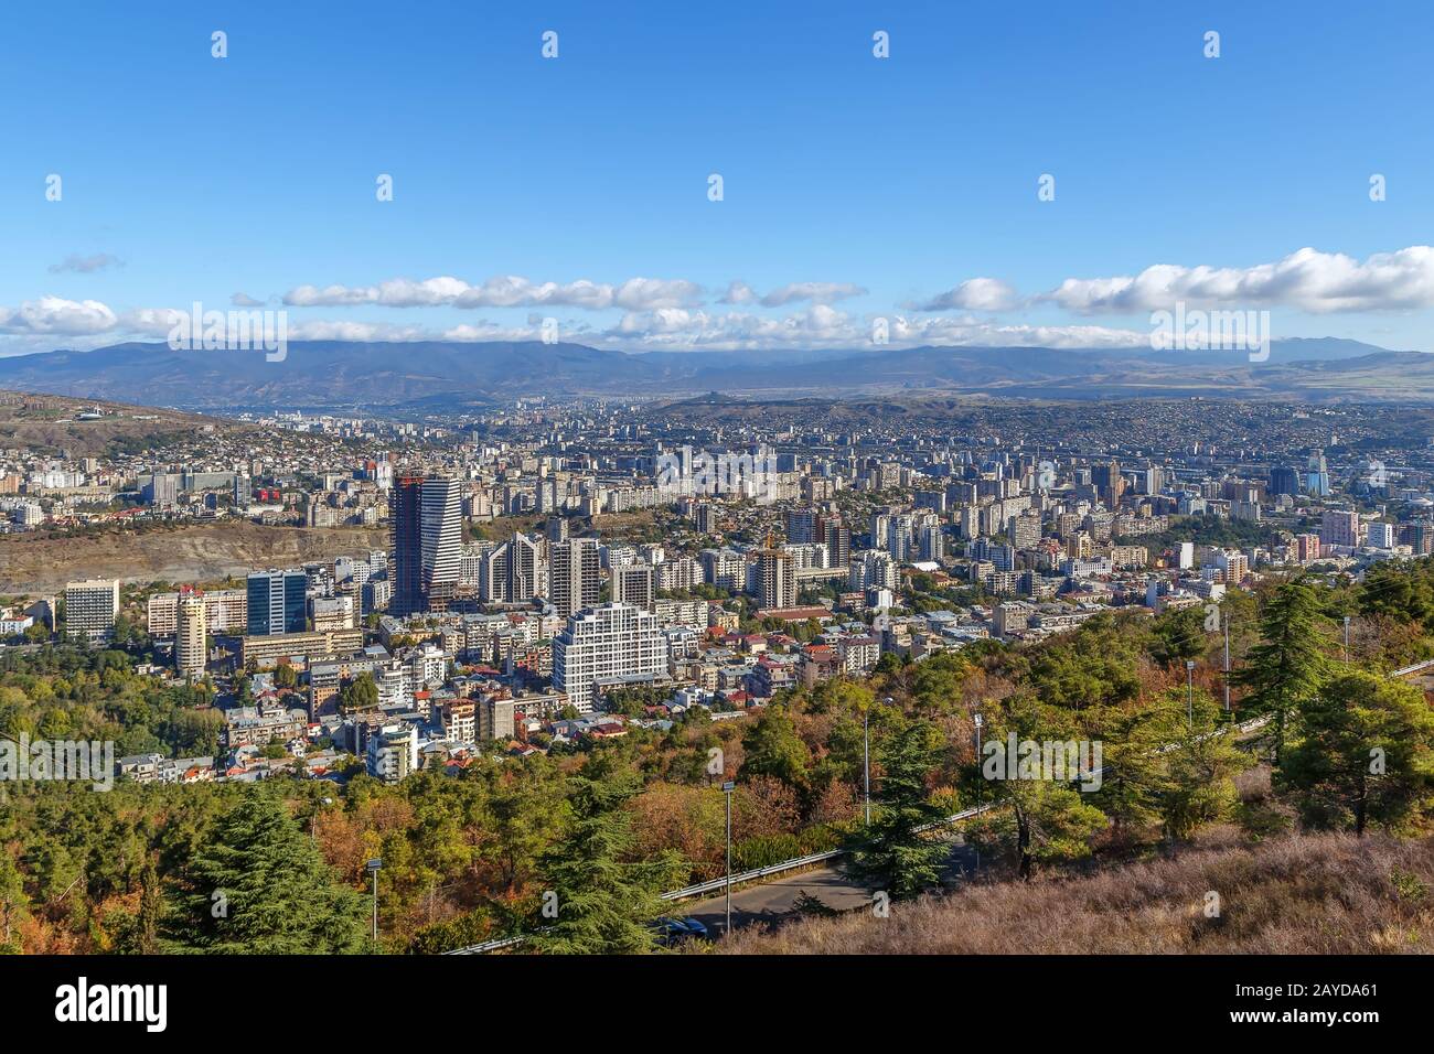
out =
[[[552,641],[552,683],[579,713],[592,711],[594,685],[667,673],[667,637],[657,617],[632,604],[599,604],[568,619]]]

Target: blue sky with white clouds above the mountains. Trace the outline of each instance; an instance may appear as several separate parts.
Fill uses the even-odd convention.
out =
[[[13,6],[0,353],[237,294],[356,338],[1074,347],[1183,300],[1434,350],[1428,4],[509,7]]]

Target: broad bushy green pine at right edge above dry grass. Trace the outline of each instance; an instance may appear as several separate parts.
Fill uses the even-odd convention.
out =
[[[1301,704],[1295,727],[1275,779],[1306,823],[1362,836],[1434,803],[1434,714],[1418,688],[1347,670]]]

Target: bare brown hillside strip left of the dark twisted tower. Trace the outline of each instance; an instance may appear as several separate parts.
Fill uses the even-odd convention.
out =
[[[11,535],[0,546],[0,592],[52,592],[80,578],[205,582],[254,568],[331,561],[381,545],[383,531],[281,528],[248,521],[152,531],[115,528],[75,538]]]

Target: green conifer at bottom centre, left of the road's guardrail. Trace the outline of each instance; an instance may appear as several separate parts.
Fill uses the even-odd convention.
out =
[[[632,777],[571,777],[565,837],[539,859],[546,882],[531,946],[556,955],[627,955],[655,946],[651,924],[673,860],[627,862],[632,815],[624,807],[641,790]]]

